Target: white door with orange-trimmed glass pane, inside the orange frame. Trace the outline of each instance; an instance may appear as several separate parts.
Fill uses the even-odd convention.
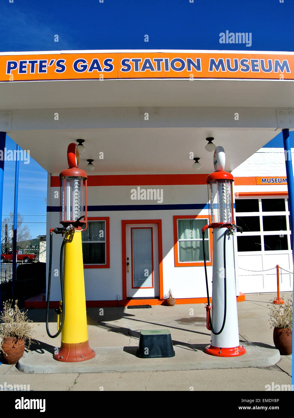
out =
[[[127,298],[159,296],[157,224],[126,225]]]

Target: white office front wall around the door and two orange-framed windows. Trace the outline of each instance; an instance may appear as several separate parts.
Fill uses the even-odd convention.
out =
[[[50,182],[49,182],[50,184]],[[207,215],[207,186],[206,185],[178,185],[178,186],[141,186],[141,189],[162,189],[162,204],[156,201],[134,201],[130,199],[131,190],[137,186],[90,186],[88,187],[88,207],[114,205],[117,210],[88,211],[88,217],[109,217],[110,230],[110,268],[84,269],[86,300],[122,300],[122,220],[129,219],[162,219],[162,268],[163,292],[172,290],[175,298],[206,297],[206,284],[204,267],[175,267],[174,263],[174,215]],[[54,198],[54,192],[59,188],[51,187],[50,206],[59,208],[59,199]],[[59,194],[58,194],[59,196]],[[203,204],[206,209],[160,209],[160,205]],[[136,206],[156,205],[157,210],[136,210]],[[124,210],[124,205],[133,205],[134,210]],[[51,227],[60,227],[58,212],[50,212]],[[48,238],[49,239],[49,238]],[[52,281],[51,300],[61,297],[60,278],[54,277],[54,270],[59,272],[59,252],[61,235],[53,234]],[[48,248],[49,246],[47,246]],[[49,249],[47,249],[49,257]],[[48,259],[48,258],[47,258]],[[48,267],[47,267],[48,268]],[[207,267],[208,278],[212,277],[212,267]],[[59,274],[59,273],[58,273]],[[208,279],[210,296],[211,280]]]

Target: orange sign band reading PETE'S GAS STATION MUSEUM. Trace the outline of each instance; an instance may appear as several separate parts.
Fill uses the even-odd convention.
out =
[[[0,81],[294,79],[294,55],[246,52],[97,52],[0,56]]]

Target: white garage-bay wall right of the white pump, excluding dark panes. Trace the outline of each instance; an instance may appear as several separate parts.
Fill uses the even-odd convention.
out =
[[[291,160],[294,158],[294,149],[291,149]],[[293,163],[292,163],[293,164]],[[261,148],[240,166],[232,171],[234,177],[274,177],[286,176],[284,148]],[[271,184],[256,186],[234,186],[235,198],[246,199],[238,193],[255,192],[256,196],[248,199],[266,199],[258,193],[268,193],[268,198],[286,198],[287,185]],[[285,192],[284,196],[273,196],[272,192]],[[289,215],[286,201],[286,215]],[[274,213],[273,213],[274,216]],[[286,216],[287,229],[290,231],[289,220]],[[240,235],[240,233],[238,233]],[[276,265],[284,270],[280,273],[280,291],[293,290],[293,256],[288,239],[289,249],[286,251],[238,252],[239,288],[243,293],[275,292],[277,289]],[[271,269],[271,270],[269,270]],[[247,271],[255,270],[255,271]],[[286,272],[288,270],[291,273]]]

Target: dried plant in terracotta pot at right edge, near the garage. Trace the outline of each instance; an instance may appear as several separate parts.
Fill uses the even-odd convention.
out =
[[[271,301],[272,302],[272,301]],[[292,353],[293,296],[284,305],[268,305],[269,323],[274,327],[273,339],[281,355]]]

